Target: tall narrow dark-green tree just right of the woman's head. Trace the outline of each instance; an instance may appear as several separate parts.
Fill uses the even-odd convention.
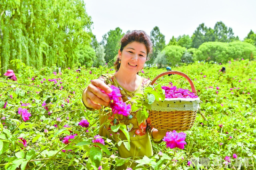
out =
[[[165,39],[164,35],[160,32],[158,26],[155,26],[153,30],[150,32],[150,38],[153,43],[153,55],[151,59],[147,62],[148,64],[154,63],[157,54],[162,51],[165,47]]]

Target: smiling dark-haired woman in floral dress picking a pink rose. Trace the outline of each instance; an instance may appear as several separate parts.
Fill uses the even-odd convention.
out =
[[[118,50],[116,62],[116,72],[114,74],[101,75],[99,79],[92,80],[92,83],[84,89],[83,102],[85,107],[90,110],[100,109],[101,105],[109,106],[110,99],[107,94],[100,91],[111,92],[109,84],[115,85],[120,89],[124,102],[136,96],[137,93],[143,93],[143,89],[150,84],[150,81],[146,78],[142,78],[138,75],[139,71],[143,68],[143,65],[148,60],[148,55],[152,53],[152,42],[150,37],[144,31],[132,31],[128,32],[121,39],[121,48]],[[101,110],[99,111],[101,113]],[[147,157],[153,155],[152,145],[149,136],[152,137],[155,143],[160,143],[165,136],[165,132],[158,131],[151,126],[150,120],[144,120],[142,123],[138,123],[137,112],[130,113],[130,115],[109,115],[109,117],[102,117],[100,125],[108,119],[111,125],[124,124],[130,135],[131,149],[128,151],[124,144],[116,146],[118,148],[118,154],[122,158],[128,157]],[[110,138],[110,134],[113,135],[115,141],[117,141],[117,134],[111,131],[111,125],[104,125],[99,135],[102,137]],[[148,129],[148,132],[147,132]],[[119,131],[122,140],[126,139],[123,132]],[[118,169],[126,169],[130,166],[130,163],[126,163],[124,166],[117,167]],[[136,164],[132,164],[136,166]]]

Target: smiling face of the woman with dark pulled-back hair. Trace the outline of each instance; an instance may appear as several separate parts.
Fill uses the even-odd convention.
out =
[[[118,51],[121,59],[120,69],[129,73],[137,73],[141,70],[147,59],[147,49],[143,43],[134,41],[126,45],[123,52]]]

